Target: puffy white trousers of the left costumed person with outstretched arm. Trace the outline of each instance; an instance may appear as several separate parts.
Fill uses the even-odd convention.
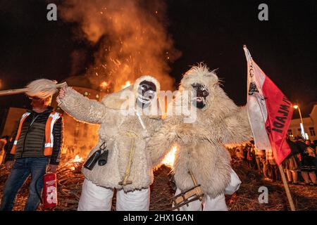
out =
[[[149,188],[141,191],[117,190],[117,211],[148,211],[149,210]],[[88,179],[82,184],[82,194],[78,203],[78,211],[110,211],[113,198],[113,189],[103,188],[92,183]]]

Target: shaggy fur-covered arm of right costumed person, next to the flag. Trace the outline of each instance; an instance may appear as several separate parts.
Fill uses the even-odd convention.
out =
[[[235,112],[225,118],[225,129],[221,136],[224,144],[239,144],[249,141],[252,137],[251,126],[247,115],[247,107],[237,108]]]

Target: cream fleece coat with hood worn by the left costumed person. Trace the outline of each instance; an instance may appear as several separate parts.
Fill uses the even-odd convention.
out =
[[[156,93],[159,93],[159,82],[154,77],[143,76],[139,77],[132,86],[105,96],[101,102],[89,100],[70,87],[66,89],[64,98],[57,99],[58,105],[76,120],[100,124],[99,142],[89,153],[88,158],[99,149],[101,143],[106,142],[109,150],[108,162],[104,166],[99,166],[97,163],[92,170],[86,168],[82,170],[85,178],[98,186],[123,188],[124,191],[133,191],[135,189],[148,188],[153,182],[153,165],[150,154],[146,150],[145,140],[153,133],[156,127],[162,124],[161,119],[159,117],[141,115],[147,127],[148,132],[146,132],[142,128],[137,115],[122,114],[123,105],[128,105],[128,101],[138,108],[135,104],[137,87],[144,80],[154,82],[156,84]],[[118,183],[123,181],[130,158],[132,138],[128,133],[131,131],[137,135],[135,138],[135,153],[132,158],[130,176],[128,177],[132,184],[120,186]]]

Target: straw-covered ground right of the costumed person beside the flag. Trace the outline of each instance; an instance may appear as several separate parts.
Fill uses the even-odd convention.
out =
[[[232,167],[240,177],[239,191],[228,196],[232,211],[280,211],[290,210],[282,181],[266,181],[261,174],[247,167],[247,162],[232,160]],[[259,188],[268,188],[268,203],[259,203]],[[289,184],[296,210],[317,210],[317,187]]]

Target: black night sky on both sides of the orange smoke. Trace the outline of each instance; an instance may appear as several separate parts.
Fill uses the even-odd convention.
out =
[[[1,89],[25,86],[37,78],[61,81],[70,75],[70,54],[94,49],[74,39],[74,25],[46,20],[49,1],[0,0]],[[268,21],[258,6],[268,4]],[[247,101],[247,62],[243,44],[261,69],[293,102],[317,101],[317,1],[166,0],[168,32],[182,56],[170,64],[175,87],[189,65],[204,61],[218,68],[228,96]],[[0,97],[0,107],[25,105],[25,96]]]

